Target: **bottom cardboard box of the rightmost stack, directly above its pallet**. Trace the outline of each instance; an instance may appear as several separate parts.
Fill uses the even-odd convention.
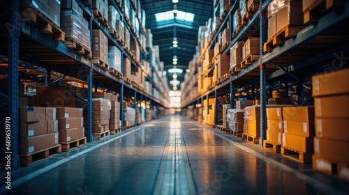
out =
[[[334,163],[349,164],[349,155],[343,154],[343,152],[348,148],[348,141],[337,141],[314,137],[314,154],[329,159]]]

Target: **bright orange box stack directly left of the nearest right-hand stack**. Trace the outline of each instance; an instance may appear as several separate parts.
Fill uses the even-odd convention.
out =
[[[313,153],[314,107],[283,107],[283,147]]]

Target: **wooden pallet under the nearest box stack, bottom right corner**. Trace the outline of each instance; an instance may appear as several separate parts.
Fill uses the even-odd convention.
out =
[[[340,178],[342,180],[346,180],[349,182],[349,177],[345,172],[342,172],[342,169],[349,169],[349,164],[332,162],[328,159],[318,157],[317,155],[313,155],[313,169],[315,171],[320,171],[322,173],[326,173],[329,176],[334,176],[336,178]],[[321,164],[322,166],[318,166]]]

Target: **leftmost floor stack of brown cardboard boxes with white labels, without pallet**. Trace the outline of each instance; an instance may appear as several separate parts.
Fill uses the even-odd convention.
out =
[[[35,153],[58,141],[56,109],[45,107],[20,107],[20,154]]]

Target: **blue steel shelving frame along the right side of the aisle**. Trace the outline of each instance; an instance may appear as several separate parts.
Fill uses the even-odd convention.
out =
[[[217,33],[211,36],[211,42],[209,47],[211,49],[218,38],[218,34],[223,30],[224,26],[228,24],[230,26],[230,45],[222,52],[222,54],[228,54],[230,47],[235,42],[240,40],[246,40],[248,36],[259,36],[260,37],[260,60],[255,61],[248,67],[242,69],[237,74],[230,76],[229,79],[223,81],[221,84],[217,84],[209,88],[205,93],[198,95],[196,98],[186,101],[182,108],[187,108],[195,104],[202,104],[203,100],[208,98],[216,99],[216,108],[221,105],[218,102],[218,95],[220,91],[229,91],[230,94],[230,108],[234,108],[235,101],[234,95],[238,87],[251,86],[252,94],[254,97],[255,89],[258,89],[260,93],[260,145],[262,146],[262,140],[266,139],[266,102],[269,90],[279,91],[273,82],[283,83],[285,88],[288,89],[288,84],[294,81],[297,86],[297,95],[301,98],[310,98],[311,92],[307,93],[306,97],[302,94],[302,91],[310,87],[307,84],[310,83],[311,76],[320,72],[326,72],[329,70],[338,70],[348,66],[346,61],[348,58],[343,56],[348,52],[349,48],[349,37],[348,30],[341,28],[341,24],[347,24],[349,20],[349,3],[344,2],[341,8],[330,9],[325,15],[322,15],[318,22],[313,24],[307,24],[304,29],[297,33],[294,38],[285,40],[284,44],[276,47],[272,52],[264,53],[263,45],[267,40],[266,29],[267,29],[267,18],[266,11],[267,6],[271,0],[262,1],[260,0],[259,10],[253,14],[246,25],[239,31],[235,38],[232,38],[232,14],[239,7],[239,1],[235,1],[221,26],[218,27]],[[204,52],[204,53],[205,53]],[[197,66],[202,65],[202,56],[198,61]],[[279,91],[279,93],[283,93]],[[283,93],[287,95],[288,93]],[[310,94],[310,95],[309,95]],[[294,100],[292,97],[289,99],[297,104],[310,104],[309,101]],[[216,109],[216,118],[214,125],[219,123],[217,118],[218,109]]]

